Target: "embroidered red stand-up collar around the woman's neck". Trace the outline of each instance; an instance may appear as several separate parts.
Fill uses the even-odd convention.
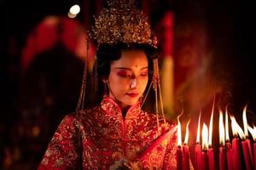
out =
[[[120,106],[110,97],[104,97],[102,99],[101,108],[108,115],[122,116]],[[131,119],[137,116],[141,112],[141,104],[138,101],[136,105],[132,105],[125,115],[125,119]]]

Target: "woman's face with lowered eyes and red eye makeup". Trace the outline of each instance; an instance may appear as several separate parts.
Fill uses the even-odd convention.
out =
[[[123,109],[135,105],[148,83],[148,59],[143,50],[126,50],[110,65],[109,97]]]

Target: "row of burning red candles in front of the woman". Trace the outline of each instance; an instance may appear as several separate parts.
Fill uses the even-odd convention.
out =
[[[201,114],[199,116],[194,165],[195,169],[215,169],[214,154],[212,148],[212,120],[213,120],[214,103],[212,106],[212,115],[210,118],[209,128],[203,123],[201,130]],[[256,169],[256,127],[250,127],[247,124],[247,106],[242,113],[243,127],[242,130],[236,122],[234,116],[230,116],[233,139],[230,143],[229,136],[229,114],[227,107],[225,108],[225,123],[223,111],[219,109],[219,149],[218,149],[218,166],[220,170],[231,169]],[[181,115],[180,115],[181,116]],[[189,169],[189,122],[186,126],[185,139],[182,144],[180,116],[177,117],[177,169]],[[253,136],[253,149],[248,132]],[[201,144],[200,144],[201,133]]]

